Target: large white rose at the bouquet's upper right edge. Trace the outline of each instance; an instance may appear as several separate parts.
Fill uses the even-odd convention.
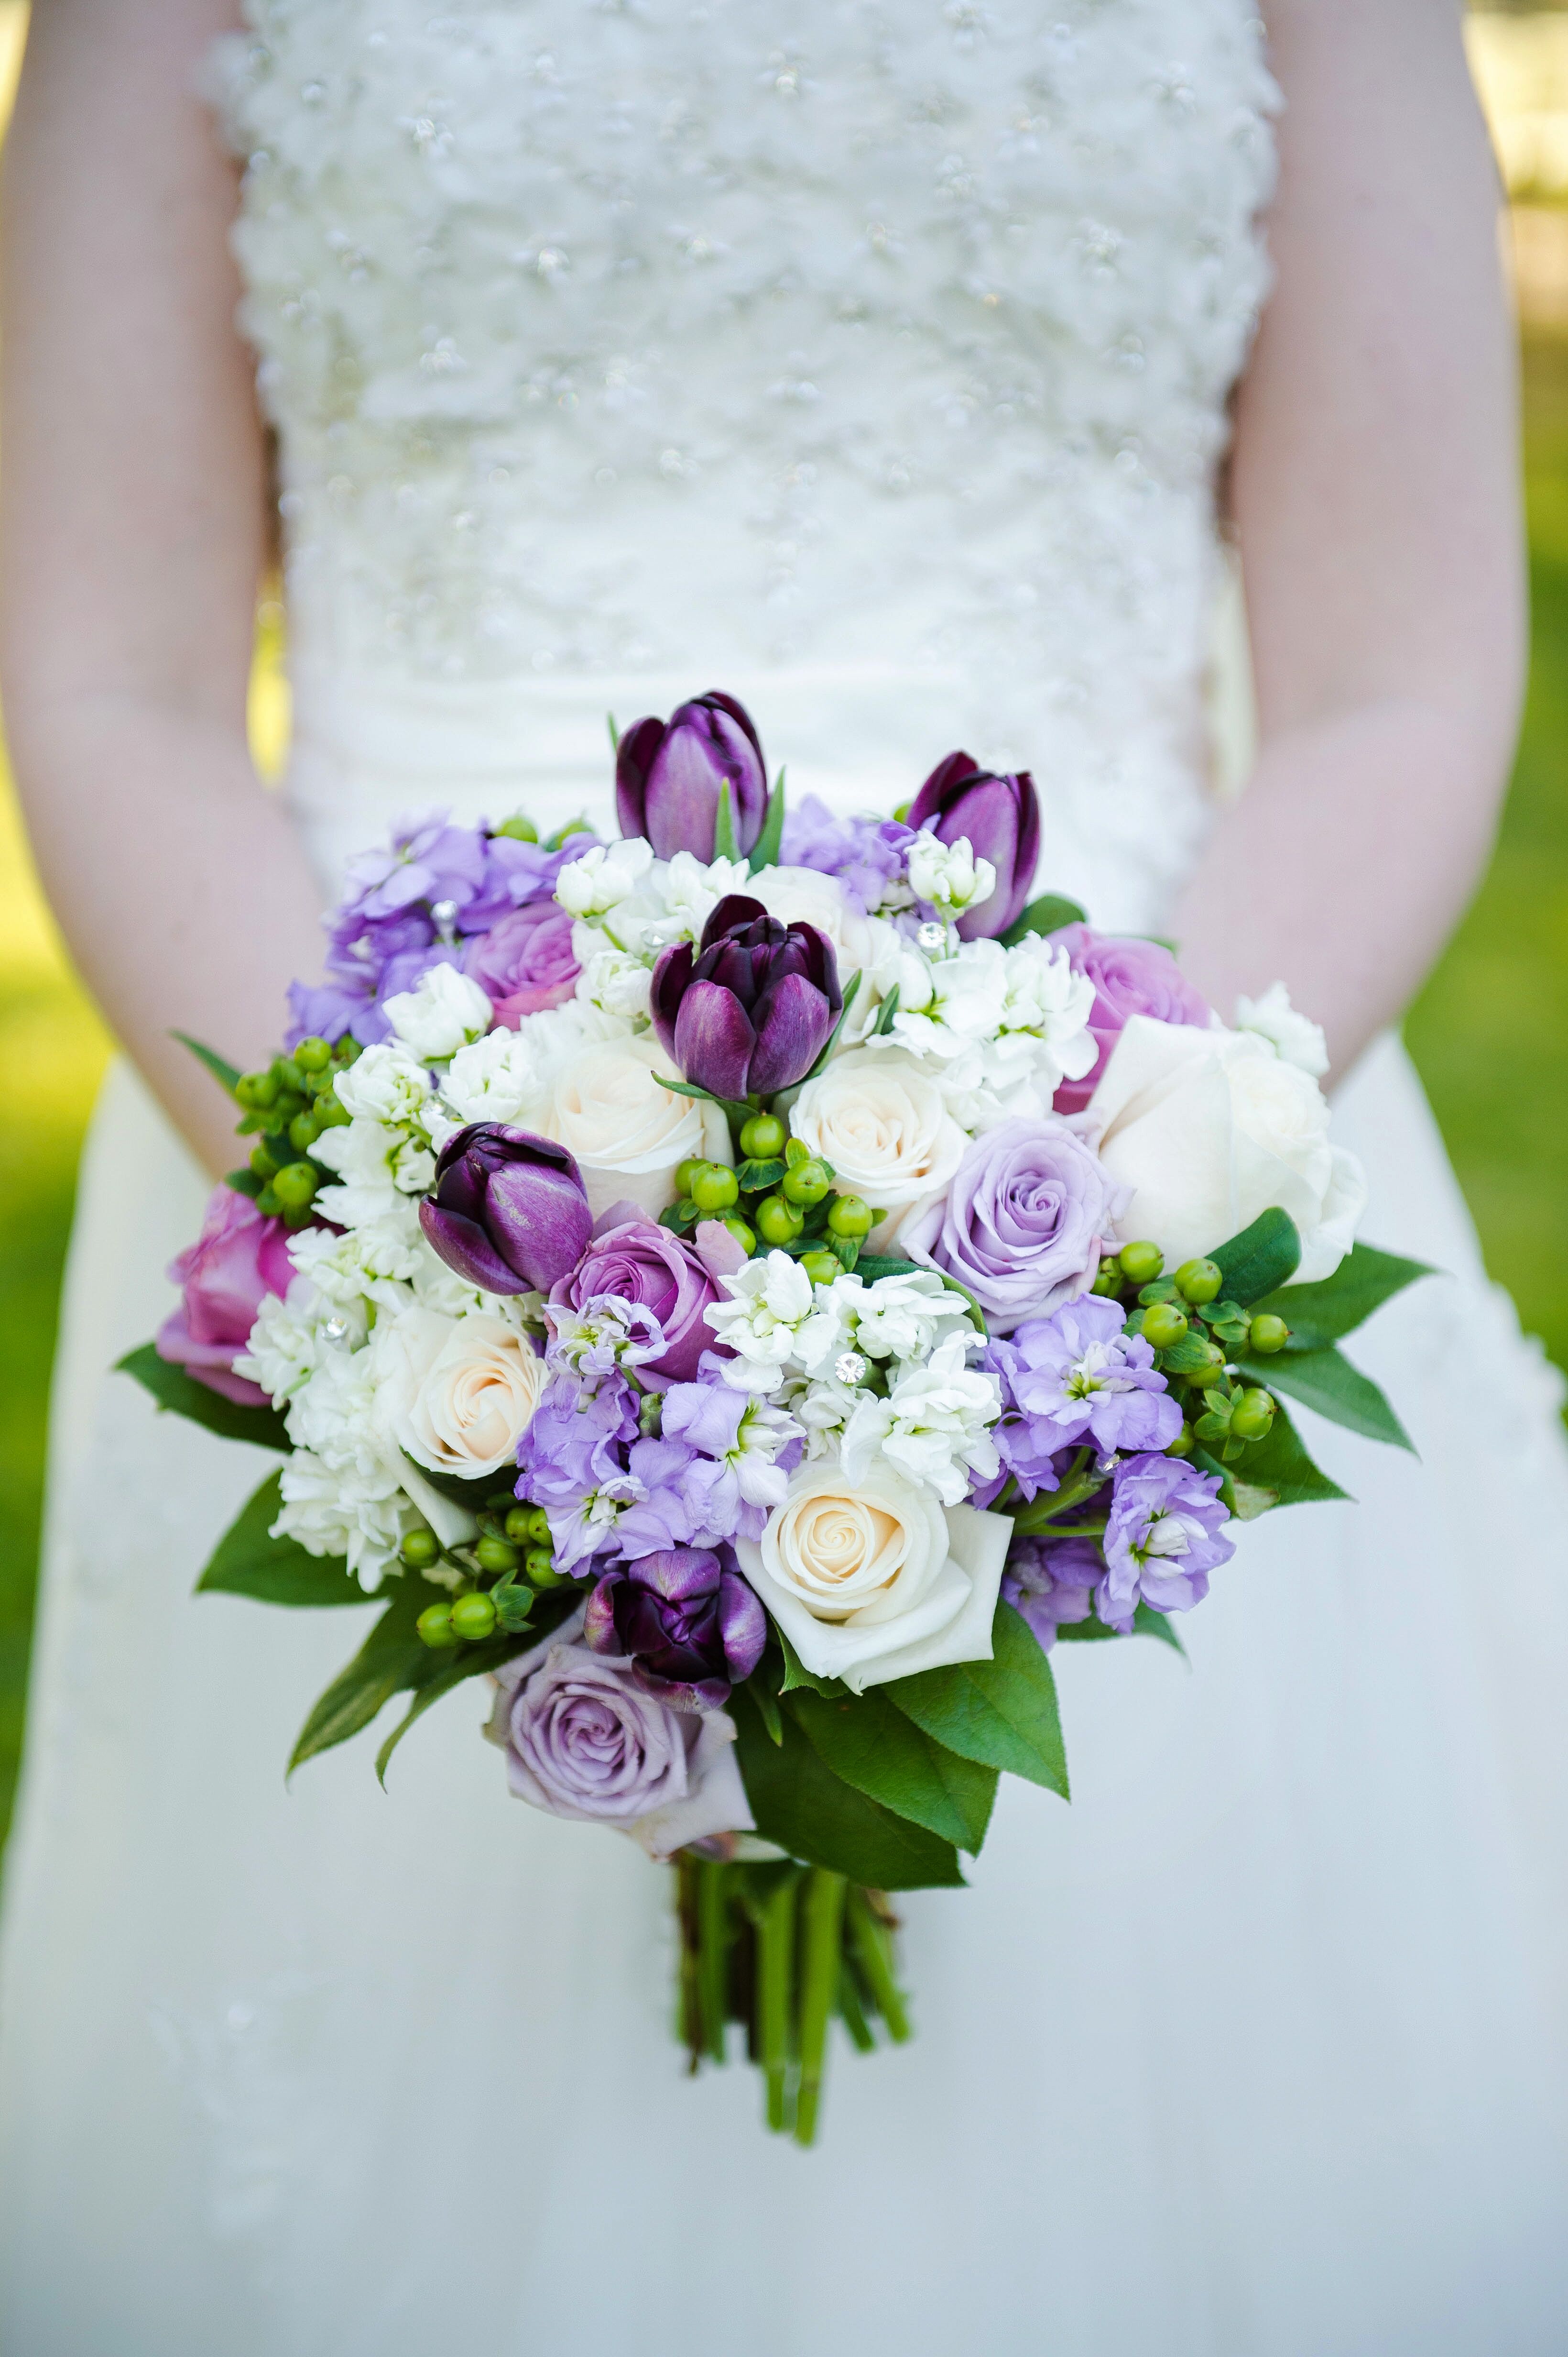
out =
[[[1366,1178],[1328,1141],[1316,1080],[1255,1032],[1132,1016],[1088,1103],[1099,1160],[1132,1190],[1116,1223],[1168,1266],[1212,1252],[1278,1204],[1302,1230],[1297,1285],[1330,1277],[1356,1235]]]

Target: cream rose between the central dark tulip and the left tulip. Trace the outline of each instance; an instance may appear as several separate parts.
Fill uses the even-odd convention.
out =
[[[666,1080],[680,1072],[650,1032],[577,1049],[549,1072],[537,1127],[577,1155],[596,1219],[617,1202],[657,1219],[687,1155],[735,1162],[723,1108],[678,1096]]]

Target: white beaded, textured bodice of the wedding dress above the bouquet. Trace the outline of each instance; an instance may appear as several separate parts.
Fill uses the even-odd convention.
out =
[[[1064,844],[1180,863],[1267,283],[1245,0],[247,14],[306,705],[457,745],[582,702],[598,757],[605,681],[622,719],[772,681],[791,775],[812,731],[808,783],[965,742],[1034,764]]]

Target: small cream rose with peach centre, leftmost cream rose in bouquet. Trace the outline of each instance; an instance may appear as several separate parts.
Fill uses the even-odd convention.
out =
[[[400,1310],[377,1325],[379,1400],[398,1447],[431,1473],[499,1473],[544,1391],[544,1360],[506,1318]]]

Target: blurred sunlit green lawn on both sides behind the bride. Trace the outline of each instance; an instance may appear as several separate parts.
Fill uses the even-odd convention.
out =
[[[1535,658],[1497,858],[1408,1039],[1493,1275],[1568,1367],[1568,342],[1526,351]],[[271,733],[271,731],[268,731]],[[0,1831],[21,1742],[45,1405],[80,1131],[104,1030],[0,780]]]

